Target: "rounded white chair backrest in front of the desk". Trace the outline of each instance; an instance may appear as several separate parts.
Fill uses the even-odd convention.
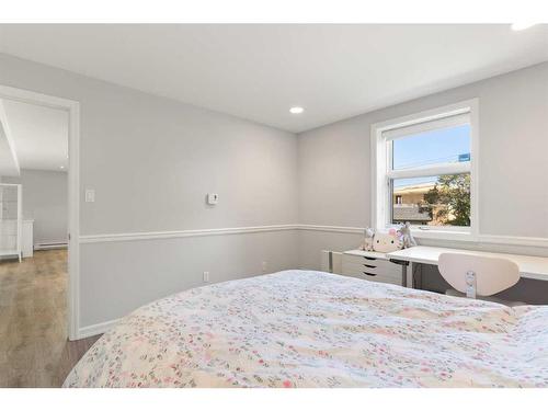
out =
[[[472,283],[473,294],[487,297],[510,288],[520,281],[516,263],[492,256],[442,253],[438,269],[453,288],[469,297]]]

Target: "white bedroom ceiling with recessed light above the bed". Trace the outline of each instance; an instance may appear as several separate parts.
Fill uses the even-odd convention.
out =
[[[546,61],[548,25],[0,25],[0,50],[299,133]]]

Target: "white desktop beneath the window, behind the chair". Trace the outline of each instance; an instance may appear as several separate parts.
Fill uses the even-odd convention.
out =
[[[416,246],[404,250],[389,252],[386,255],[390,260],[407,261],[409,263],[437,265],[439,254],[444,252],[456,252],[463,254],[498,256],[502,259],[507,259],[517,264],[517,266],[520,267],[520,274],[522,278],[548,281],[548,258],[545,256],[492,253],[484,251],[444,249],[441,247],[424,247],[424,246]]]

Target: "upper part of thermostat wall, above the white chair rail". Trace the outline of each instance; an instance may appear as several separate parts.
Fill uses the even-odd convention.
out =
[[[294,134],[1,54],[0,83],[80,102],[81,235],[297,220]]]

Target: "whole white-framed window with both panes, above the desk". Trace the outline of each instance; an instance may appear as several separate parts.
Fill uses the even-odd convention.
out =
[[[471,238],[477,230],[476,106],[468,101],[372,127],[376,228],[409,221],[419,237]]]

